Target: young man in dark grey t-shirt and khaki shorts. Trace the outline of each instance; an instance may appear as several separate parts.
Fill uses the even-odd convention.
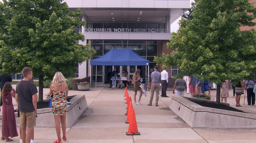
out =
[[[22,130],[22,142],[30,143],[35,120],[37,116],[37,86],[29,80],[33,77],[33,70],[29,67],[22,69],[23,80],[19,81],[16,86],[15,100],[17,110],[20,111],[20,128]]]

